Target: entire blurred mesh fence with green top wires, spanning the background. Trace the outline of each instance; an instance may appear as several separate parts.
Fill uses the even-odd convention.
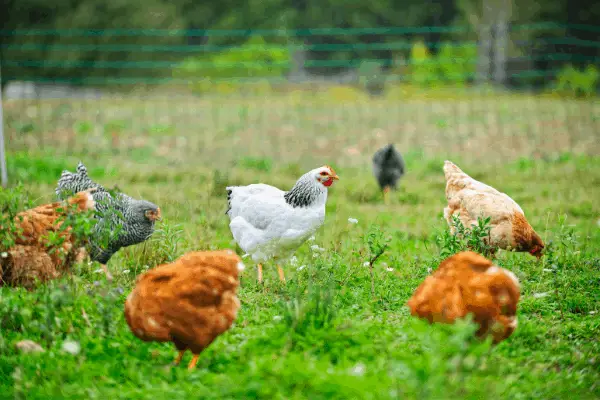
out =
[[[462,27],[0,31],[7,149],[215,165],[361,165],[386,142],[598,154],[600,41],[572,33],[600,28],[504,28],[490,43]]]

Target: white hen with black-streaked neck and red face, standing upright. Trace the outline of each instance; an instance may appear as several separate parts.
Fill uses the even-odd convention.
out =
[[[280,262],[289,259],[325,220],[327,188],[339,177],[328,165],[302,175],[284,192],[262,183],[228,186],[226,214],[229,228],[240,248],[258,263],[276,260],[279,279],[285,282]]]

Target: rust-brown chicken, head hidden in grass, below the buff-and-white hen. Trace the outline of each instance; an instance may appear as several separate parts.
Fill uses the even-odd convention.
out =
[[[508,338],[517,327],[520,297],[517,277],[485,257],[465,251],[448,257],[408,300],[410,312],[430,323],[453,323],[473,314],[479,337],[494,343]]]

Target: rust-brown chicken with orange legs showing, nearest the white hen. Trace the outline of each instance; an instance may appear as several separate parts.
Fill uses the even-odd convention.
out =
[[[186,350],[199,354],[231,327],[241,259],[231,250],[190,252],[137,278],[125,302],[131,332],[143,341],[173,342],[179,364]]]

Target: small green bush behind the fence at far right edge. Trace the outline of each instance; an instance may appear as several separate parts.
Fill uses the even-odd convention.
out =
[[[595,65],[579,70],[569,64],[558,73],[554,91],[563,96],[590,97],[596,94],[599,83],[600,71]]]

